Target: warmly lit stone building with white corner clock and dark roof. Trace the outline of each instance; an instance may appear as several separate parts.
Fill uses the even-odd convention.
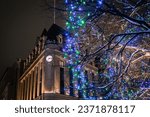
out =
[[[72,73],[66,67],[62,53],[64,34],[65,30],[56,24],[48,31],[44,29],[33,51],[25,60],[20,60],[22,73],[18,78],[18,100],[80,98],[78,90],[71,89]],[[85,71],[94,75],[96,69],[87,65]]]

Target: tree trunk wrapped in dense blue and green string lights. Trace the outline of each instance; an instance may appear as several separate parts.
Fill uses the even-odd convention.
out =
[[[84,12],[87,3],[95,3],[97,7],[100,7],[102,0],[65,0],[68,16],[66,27],[69,33],[66,33],[66,45],[63,52],[68,68],[73,73],[71,82],[74,95],[83,99],[92,99],[88,94],[89,83],[84,66],[79,65],[81,59],[79,31],[84,31],[86,18],[92,14],[91,11]]]

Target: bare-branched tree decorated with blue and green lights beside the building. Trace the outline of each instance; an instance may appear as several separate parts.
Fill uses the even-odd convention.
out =
[[[63,52],[71,87],[81,98],[137,99],[150,88],[150,1],[60,0],[58,5],[68,31]],[[91,61],[98,68],[93,82],[84,71]],[[89,90],[96,93],[90,97]]]

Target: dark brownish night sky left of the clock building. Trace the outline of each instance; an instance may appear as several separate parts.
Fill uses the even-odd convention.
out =
[[[0,1],[0,74],[31,52],[36,37],[53,23],[49,13],[42,0]]]

